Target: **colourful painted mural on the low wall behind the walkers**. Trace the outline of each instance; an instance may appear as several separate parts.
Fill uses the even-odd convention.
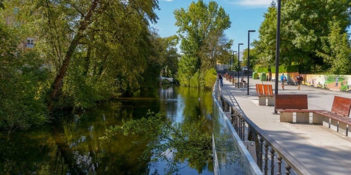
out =
[[[283,73],[279,73],[279,77]],[[297,72],[284,73],[287,77],[288,84],[297,84]],[[304,78],[302,84],[306,86],[328,89],[332,91],[343,91],[351,93],[351,75],[313,75],[301,74]],[[275,73],[272,73],[272,81],[275,79]]]

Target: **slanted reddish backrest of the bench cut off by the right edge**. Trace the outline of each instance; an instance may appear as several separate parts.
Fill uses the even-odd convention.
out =
[[[351,99],[345,97],[335,96],[331,112],[349,117],[351,109]]]

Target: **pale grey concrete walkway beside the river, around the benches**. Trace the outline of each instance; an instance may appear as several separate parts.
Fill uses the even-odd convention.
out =
[[[351,174],[351,134],[346,137],[321,125],[281,123],[279,115],[273,115],[273,106],[259,106],[255,84],[258,80],[250,79],[250,95],[246,88],[236,88],[224,78],[222,88],[224,96],[239,105],[240,109],[257,126],[282,145],[290,154],[316,175],[348,175]],[[264,82],[272,84],[273,82]],[[301,86],[285,86],[279,94],[307,94],[309,109],[331,110],[334,96],[351,98],[351,94],[333,92]]]

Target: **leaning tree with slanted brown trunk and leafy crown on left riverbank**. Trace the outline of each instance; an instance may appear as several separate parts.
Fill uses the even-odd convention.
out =
[[[49,111],[54,108],[54,103],[59,100],[58,96],[62,94],[63,87],[68,83],[64,80],[67,72],[71,71],[70,64],[77,60],[75,58],[85,57],[84,61],[78,59],[81,62],[74,64],[76,66],[83,64],[87,69],[95,66],[92,75],[109,75],[110,78],[107,79],[111,84],[114,84],[113,79],[116,79],[114,76],[119,72],[114,70],[116,63],[121,63],[119,66],[124,66],[127,70],[132,68],[122,73],[122,76],[126,77],[140,75],[142,72],[135,72],[145,69],[147,59],[140,61],[138,55],[147,58],[149,50],[138,53],[136,49],[148,42],[149,22],[157,20],[154,12],[154,9],[158,9],[157,0],[134,0],[128,3],[109,0],[46,0],[34,1],[28,6],[30,8],[27,14],[33,15],[27,24],[33,27],[34,35],[39,35],[39,43],[42,45],[38,46],[48,48],[44,53],[45,56],[52,57],[53,62],[56,63],[57,73],[47,98]],[[62,16],[65,18],[61,18]],[[99,54],[98,65],[91,64],[92,53]],[[87,71],[90,70],[85,70]],[[79,80],[76,78],[71,79],[71,82]],[[117,82],[120,79],[118,77]],[[82,77],[79,81],[85,81],[85,79]],[[127,85],[122,85],[122,88],[123,86],[124,89],[140,87],[136,82],[130,81]]]

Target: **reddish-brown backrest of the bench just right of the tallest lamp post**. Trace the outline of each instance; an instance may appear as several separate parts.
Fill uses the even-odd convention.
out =
[[[308,109],[306,94],[276,94],[276,109]]]

